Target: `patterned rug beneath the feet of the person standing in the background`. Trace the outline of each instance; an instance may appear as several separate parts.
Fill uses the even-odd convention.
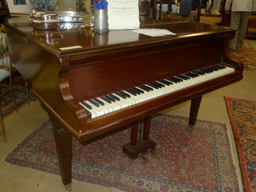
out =
[[[256,52],[249,41],[244,40],[241,49],[229,51],[229,53],[234,60],[240,60],[244,63],[244,71],[256,71]]]

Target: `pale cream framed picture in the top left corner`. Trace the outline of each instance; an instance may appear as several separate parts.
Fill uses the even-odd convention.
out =
[[[7,0],[10,13],[28,14],[33,8],[29,0]]]

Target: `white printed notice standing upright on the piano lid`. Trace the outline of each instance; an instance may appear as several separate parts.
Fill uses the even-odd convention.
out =
[[[110,30],[139,29],[138,0],[108,0]]]

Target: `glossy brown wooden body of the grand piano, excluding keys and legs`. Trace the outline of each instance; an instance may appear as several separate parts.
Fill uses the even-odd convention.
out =
[[[27,18],[4,24],[12,65],[31,83],[34,95],[79,141],[196,98],[242,79],[227,40],[236,30],[196,22],[144,21],[141,28],[177,35],[150,37],[131,30],[97,34],[84,24],[60,23],[34,30]],[[61,50],[79,46],[77,49]],[[20,47],[23,52],[20,52]],[[100,117],[79,102],[220,63],[234,72]]]

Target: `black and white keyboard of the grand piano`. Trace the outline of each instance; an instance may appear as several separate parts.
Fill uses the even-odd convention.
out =
[[[233,68],[213,65],[112,94],[81,101],[79,104],[90,111],[92,118],[95,118],[232,72],[234,72]]]

